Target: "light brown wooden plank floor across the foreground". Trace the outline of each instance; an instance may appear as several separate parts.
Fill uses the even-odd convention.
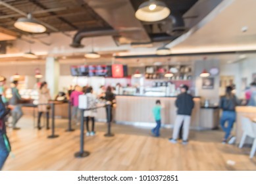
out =
[[[56,139],[47,139],[51,131],[34,129],[30,117],[22,118],[20,126],[9,130],[14,157],[9,156],[3,170],[256,170],[250,149],[222,145],[221,131],[192,131],[188,145],[172,145],[169,129],[155,138],[149,129],[115,125],[115,137],[104,137],[106,125],[97,123],[95,137],[86,137],[90,156],[74,158],[80,131],[65,132],[66,120],[57,120]]]

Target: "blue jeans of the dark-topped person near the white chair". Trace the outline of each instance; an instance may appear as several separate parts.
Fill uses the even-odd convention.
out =
[[[236,121],[236,112],[234,111],[223,111],[222,116],[220,118],[220,126],[225,132],[224,139],[227,140],[230,136],[230,132],[232,131],[232,127],[234,122]],[[226,122],[228,122],[228,126],[225,126]]]

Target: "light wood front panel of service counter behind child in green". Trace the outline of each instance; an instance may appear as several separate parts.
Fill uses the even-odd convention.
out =
[[[174,124],[177,108],[175,97],[116,97],[116,121],[117,122],[155,122],[153,106],[159,99],[165,106],[161,111],[163,124]],[[199,126],[200,99],[195,98],[195,108],[192,112],[192,126]]]

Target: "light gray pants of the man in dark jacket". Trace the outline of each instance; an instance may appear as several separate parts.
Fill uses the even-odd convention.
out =
[[[174,124],[174,129],[172,133],[172,139],[176,140],[178,139],[178,133],[180,131],[180,126],[182,126],[183,122],[183,135],[182,139],[184,141],[188,140],[188,134],[190,133],[190,118],[191,116],[188,115],[177,115],[175,124]]]

